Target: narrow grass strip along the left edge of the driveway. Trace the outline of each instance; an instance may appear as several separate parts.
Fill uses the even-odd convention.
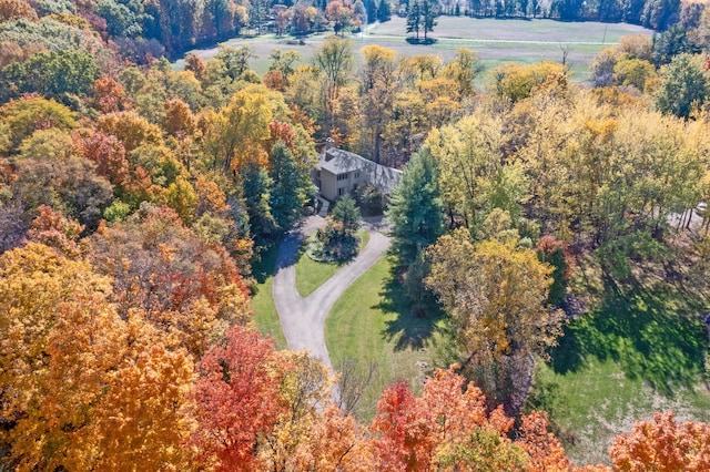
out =
[[[278,312],[272,295],[274,267],[278,255],[278,244],[267,247],[262,254],[262,259],[253,267],[256,287],[252,297],[252,309],[258,329],[274,339],[280,349],[286,348],[286,338],[281,329]]]

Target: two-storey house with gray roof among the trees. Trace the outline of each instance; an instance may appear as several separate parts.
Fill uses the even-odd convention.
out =
[[[399,183],[402,171],[376,164],[357,154],[349,153],[326,144],[321,155],[320,170],[315,172],[314,181],[321,195],[333,202],[353,192],[361,185],[372,184],[385,195]]]

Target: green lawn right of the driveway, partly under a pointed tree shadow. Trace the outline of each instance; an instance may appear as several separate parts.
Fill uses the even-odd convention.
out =
[[[372,418],[379,394],[394,380],[406,379],[419,391],[433,366],[446,365],[440,318],[412,315],[390,269],[387,258],[378,260],[343,294],[325,322],[325,342],[336,369],[347,359],[361,371],[371,362],[377,365],[356,412],[364,420]]]

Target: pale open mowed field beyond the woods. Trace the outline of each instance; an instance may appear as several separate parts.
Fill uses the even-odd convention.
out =
[[[432,38],[437,41],[430,45],[409,44],[406,42],[406,21],[393,17],[386,23],[371,24],[366,33],[353,34],[355,58],[359,61],[359,49],[367,44],[379,44],[397,51],[399,55],[437,54],[445,61],[454,58],[456,48],[470,48],[478,53],[484,65],[481,79],[487,72],[505,62],[535,63],[542,60],[561,62],[567,52],[567,64],[572,71],[574,80],[582,82],[588,78],[589,64],[604,48],[619,42],[628,34],[652,34],[641,27],[625,23],[599,22],[562,22],[554,20],[497,20],[475,19],[466,17],[439,17]],[[315,34],[298,44],[293,38],[276,38],[265,34],[257,38],[235,38],[223,45],[253,48],[257,58],[251,66],[263,74],[268,69],[268,55],[274,49],[295,50],[301,54],[303,63],[308,63],[323,41],[332,32]],[[204,59],[210,59],[217,48],[191,51]],[[175,62],[182,69],[184,61]]]

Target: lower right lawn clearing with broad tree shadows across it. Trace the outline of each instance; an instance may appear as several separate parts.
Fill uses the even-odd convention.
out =
[[[698,321],[708,304],[669,280],[599,281],[597,308],[566,327],[530,398],[580,464],[608,461],[613,435],[653,411],[710,421],[708,335]]]

